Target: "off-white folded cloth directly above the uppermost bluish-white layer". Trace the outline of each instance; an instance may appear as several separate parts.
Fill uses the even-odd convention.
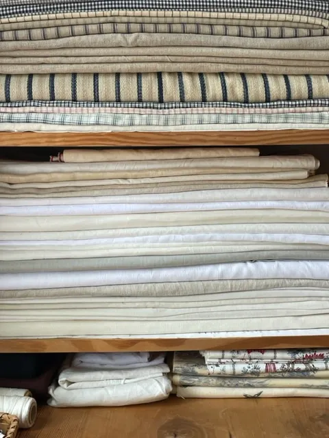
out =
[[[195,190],[162,194],[131,194],[116,196],[70,196],[68,198],[0,198],[1,207],[19,205],[88,205],[108,203],[196,203],[223,201],[328,201],[327,188],[274,189],[246,188]]]

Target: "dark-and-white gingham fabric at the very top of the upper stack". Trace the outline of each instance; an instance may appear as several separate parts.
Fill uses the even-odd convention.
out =
[[[102,10],[195,10],[226,12],[293,13],[303,10],[310,15],[329,13],[328,1],[322,0],[99,0],[2,5],[1,17],[61,12],[88,12]],[[320,14],[320,15],[318,15]]]

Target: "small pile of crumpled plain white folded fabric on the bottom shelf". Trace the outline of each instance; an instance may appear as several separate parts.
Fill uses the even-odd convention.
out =
[[[53,407],[123,406],[167,398],[171,382],[164,353],[78,353],[49,387]]]

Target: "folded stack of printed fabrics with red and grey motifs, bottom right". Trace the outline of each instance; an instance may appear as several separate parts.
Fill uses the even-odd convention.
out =
[[[329,397],[329,350],[175,352],[182,398]]]

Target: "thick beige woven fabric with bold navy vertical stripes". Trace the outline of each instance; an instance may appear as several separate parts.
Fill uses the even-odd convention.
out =
[[[0,75],[0,101],[239,102],[329,99],[329,75],[109,73]]]

